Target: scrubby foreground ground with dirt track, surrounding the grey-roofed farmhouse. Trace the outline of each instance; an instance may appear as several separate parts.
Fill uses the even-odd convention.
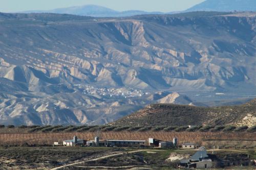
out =
[[[138,148],[89,148],[89,147],[5,147],[0,148],[0,169],[172,169],[177,161],[174,155],[186,157],[197,150],[159,150]],[[211,153],[212,151],[208,151]],[[216,150],[215,154],[241,155],[256,153],[247,150]],[[218,168],[219,169],[219,168]],[[232,167],[232,169],[255,169]]]

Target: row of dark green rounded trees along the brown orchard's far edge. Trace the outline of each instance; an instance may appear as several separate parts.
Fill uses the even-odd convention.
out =
[[[0,125],[0,128],[15,128],[13,125]],[[256,126],[248,127],[248,126],[110,126],[110,125],[102,125],[102,126],[18,126],[16,128],[19,129],[27,129],[27,132],[33,133],[33,132],[42,132],[42,133],[56,133],[56,132],[95,132],[95,131],[101,131],[101,132],[118,132],[118,131],[130,131],[130,132],[145,132],[145,131],[165,131],[165,132],[249,132],[253,133],[256,132]]]

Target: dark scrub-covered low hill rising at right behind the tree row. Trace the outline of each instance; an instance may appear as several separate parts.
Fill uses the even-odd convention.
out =
[[[247,118],[251,117],[251,118]],[[188,125],[256,125],[256,99],[239,106],[195,107],[173,104],[152,104],[113,125],[125,126],[188,126]],[[246,119],[247,118],[247,119]]]

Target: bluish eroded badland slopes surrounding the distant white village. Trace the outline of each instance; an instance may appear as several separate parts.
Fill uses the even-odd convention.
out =
[[[255,98],[255,18],[0,13],[0,124],[107,124],[152,103]]]

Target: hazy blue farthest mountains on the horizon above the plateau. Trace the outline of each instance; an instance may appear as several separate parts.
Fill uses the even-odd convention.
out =
[[[256,11],[255,0],[206,0],[203,3],[195,5],[186,10],[190,11]],[[184,12],[184,11],[182,11]],[[126,17],[135,15],[149,15],[149,14],[174,14],[180,12],[146,12],[138,10],[129,11],[115,11],[109,8],[96,6],[96,5],[85,5],[69,8],[58,8],[47,11],[24,11],[20,13],[57,13],[57,14],[71,14],[80,16],[93,16],[93,17]]]

